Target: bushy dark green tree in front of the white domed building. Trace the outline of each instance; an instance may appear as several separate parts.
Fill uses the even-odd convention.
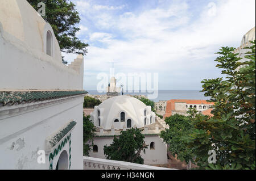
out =
[[[106,159],[143,164],[141,151],[145,153],[146,148],[141,131],[138,128],[131,128],[121,131],[119,138],[114,136],[113,143],[110,146],[104,146],[104,154]]]

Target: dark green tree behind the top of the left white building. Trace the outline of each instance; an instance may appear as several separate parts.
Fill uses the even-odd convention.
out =
[[[80,28],[76,24],[80,22],[79,12],[75,9],[75,4],[68,0],[27,0],[28,3],[37,11],[38,3],[46,4],[46,15],[42,16],[47,23],[51,24],[53,32],[60,45],[61,52],[76,53],[85,55],[88,44],[82,43],[76,32]],[[67,61],[63,59],[63,64]]]

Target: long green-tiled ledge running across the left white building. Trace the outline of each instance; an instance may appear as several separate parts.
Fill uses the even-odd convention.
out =
[[[87,93],[87,91],[0,91],[0,106],[11,106]]]

